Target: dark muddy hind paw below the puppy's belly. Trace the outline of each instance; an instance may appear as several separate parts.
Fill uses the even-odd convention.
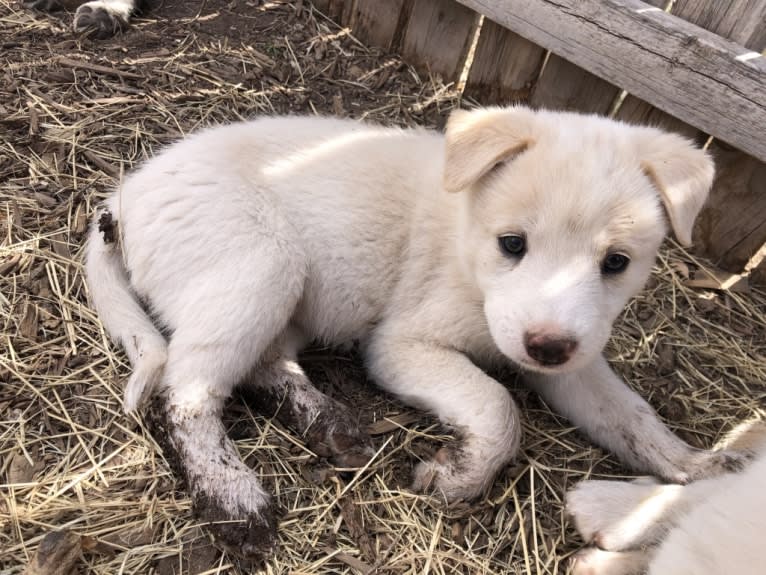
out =
[[[322,410],[306,431],[306,442],[314,453],[331,458],[339,467],[363,467],[375,453],[370,436],[340,403]]]

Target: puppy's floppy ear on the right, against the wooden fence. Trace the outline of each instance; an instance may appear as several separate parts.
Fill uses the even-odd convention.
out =
[[[642,145],[641,167],[660,192],[676,239],[691,245],[694,220],[713,185],[713,160],[681,136],[651,132]]]

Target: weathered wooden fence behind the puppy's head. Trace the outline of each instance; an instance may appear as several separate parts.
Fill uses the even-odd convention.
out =
[[[523,102],[649,123],[710,150],[695,230],[720,267],[766,251],[766,0],[314,0],[368,45],[464,80],[480,104]],[[766,279],[766,263],[753,272]]]

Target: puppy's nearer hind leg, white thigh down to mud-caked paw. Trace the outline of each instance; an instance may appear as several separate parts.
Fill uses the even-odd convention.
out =
[[[285,246],[220,258],[179,289],[165,367],[171,457],[194,506],[223,547],[261,560],[276,545],[270,497],[239,458],[220,420],[224,400],[284,331],[305,266]]]

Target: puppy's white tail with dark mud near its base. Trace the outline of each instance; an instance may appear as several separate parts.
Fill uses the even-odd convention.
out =
[[[125,411],[133,411],[152,395],[162,379],[168,344],[130,287],[117,222],[108,210],[91,226],[85,274],[101,322],[109,335],[122,344],[133,366],[124,400]]]

